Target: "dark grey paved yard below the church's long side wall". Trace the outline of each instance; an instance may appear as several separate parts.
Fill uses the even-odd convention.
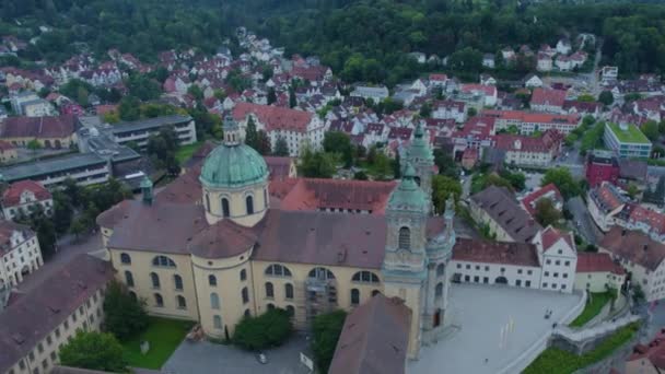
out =
[[[267,350],[267,364],[257,361],[256,354],[233,346],[209,341],[183,341],[162,367],[165,374],[306,374],[310,371],[300,363],[300,352],[307,341],[294,336],[284,346]]]

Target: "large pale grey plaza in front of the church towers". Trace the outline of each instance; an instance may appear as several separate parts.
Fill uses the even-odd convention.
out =
[[[552,330],[581,296],[500,285],[453,284],[450,323],[458,326],[423,347],[409,374],[498,373]],[[545,319],[545,311],[552,315]],[[502,342],[501,329],[513,322]],[[486,362],[487,359],[487,362]]]

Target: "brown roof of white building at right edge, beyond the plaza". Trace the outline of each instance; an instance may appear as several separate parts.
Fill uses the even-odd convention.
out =
[[[652,241],[640,231],[612,226],[599,244],[611,254],[649,270],[655,270],[665,258],[665,244]]]

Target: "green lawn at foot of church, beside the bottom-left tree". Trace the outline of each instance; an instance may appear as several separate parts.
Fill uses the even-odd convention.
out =
[[[161,369],[185,338],[194,323],[150,317],[148,329],[131,340],[122,342],[125,360],[129,366]],[[150,342],[147,354],[141,353],[141,341]]]

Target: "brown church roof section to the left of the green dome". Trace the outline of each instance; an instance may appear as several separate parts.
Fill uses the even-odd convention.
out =
[[[124,209],[109,248],[187,254],[195,234],[208,226],[201,206],[129,200]]]

